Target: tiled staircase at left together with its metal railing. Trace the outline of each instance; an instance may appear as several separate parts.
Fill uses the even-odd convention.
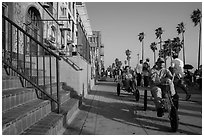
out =
[[[12,20],[5,16],[2,18],[3,26],[7,23],[10,26],[2,31],[2,134],[62,134],[76,115],[81,98],[59,81],[61,58]],[[17,35],[11,35],[13,32]],[[29,56],[25,56],[25,50],[20,53],[20,36],[32,40],[48,55],[40,57],[37,53],[33,56],[30,52]],[[14,39],[17,40],[16,52],[12,49]],[[23,45],[28,44],[31,49],[32,45],[24,42]],[[51,74],[53,71],[54,74]]]

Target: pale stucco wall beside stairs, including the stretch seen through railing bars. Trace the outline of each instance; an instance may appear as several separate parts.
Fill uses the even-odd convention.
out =
[[[67,86],[73,88],[78,95],[86,96],[88,91],[94,86],[94,79],[91,79],[91,65],[86,62],[80,56],[69,57],[77,66],[82,68],[82,70],[76,70],[70,64],[68,64],[63,59],[59,61],[59,73],[60,73],[60,82],[66,83]],[[27,58],[27,61],[30,59]],[[36,62],[36,58],[32,58],[32,62]],[[45,75],[50,75],[50,58],[45,57]],[[51,57],[51,72],[54,76],[52,82],[56,82],[56,58]],[[43,69],[43,58],[40,57],[38,60],[38,69]],[[36,65],[33,66],[36,68]]]

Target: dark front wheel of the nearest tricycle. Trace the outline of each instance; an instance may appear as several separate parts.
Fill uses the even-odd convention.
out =
[[[179,126],[179,118],[178,118],[178,110],[174,106],[171,106],[170,123],[171,123],[171,130],[173,132],[176,132]]]

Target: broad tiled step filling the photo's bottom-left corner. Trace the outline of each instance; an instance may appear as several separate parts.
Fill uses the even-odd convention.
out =
[[[2,113],[2,134],[21,134],[50,112],[50,101],[39,99],[5,111]]]

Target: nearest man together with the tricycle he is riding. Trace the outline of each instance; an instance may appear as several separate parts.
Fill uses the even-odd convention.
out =
[[[164,112],[169,113],[172,131],[177,131],[178,94],[174,88],[174,75],[164,67],[164,59],[158,58],[155,67],[150,72],[150,89],[157,110],[157,116],[162,117]]]

